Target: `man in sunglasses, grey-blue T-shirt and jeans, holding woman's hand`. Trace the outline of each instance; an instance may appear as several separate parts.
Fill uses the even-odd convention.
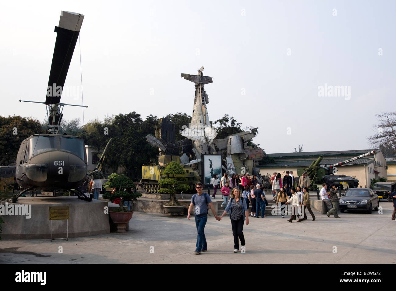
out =
[[[188,207],[188,213],[187,213],[187,219],[190,220],[191,217],[190,213],[192,211],[192,207],[195,206],[195,224],[198,232],[196,249],[194,251],[194,254],[196,255],[199,255],[201,252],[208,250],[204,228],[206,225],[206,221],[208,220],[209,207],[212,210],[215,219],[221,220],[221,218],[217,216],[217,213],[215,211],[215,208],[213,207],[213,203],[212,200],[210,199],[209,194],[203,192],[203,187],[204,186],[202,185],[201,182],[196,183],[195,188],[197,192],[191,197],[191,203],[190,206]]]

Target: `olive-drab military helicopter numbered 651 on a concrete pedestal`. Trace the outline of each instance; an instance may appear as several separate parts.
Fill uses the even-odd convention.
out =
[[[61,11],[55,48],[53,51],[51,70],[45,102],[47,110],[47,133],[35,134],[22,141],[16,159],[15,179],[24,188],[12,197],[17,202],[18,197],[31,190],[53,191],[69,190],[78,198],[91,201],[78,189],[87,176],[87,156],[84,140],[81,137],[59,134],[59,125],[63,117],[63,107],[69,104],[60,103],[63,86],[70,62],[80,33],[84,15],[69,11]],[[88,107],[83,105],[71,105]]]

